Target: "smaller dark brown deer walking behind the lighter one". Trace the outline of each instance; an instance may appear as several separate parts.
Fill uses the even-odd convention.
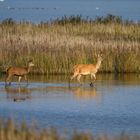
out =
[[[27,67],[9,67],[6,70],[5,84],[7,85],[7,82],[9,82],[9,85],[11,85],[11,78],[13,76],[18,76],[19,84],[20,84],[20,81],[22,78],[24,78],[28,84],[27,74],[30,72],[31,67],[33,67],[33,66],[34,66],[34,63],[32,60],[30,60],[30,61],[28,61]]]

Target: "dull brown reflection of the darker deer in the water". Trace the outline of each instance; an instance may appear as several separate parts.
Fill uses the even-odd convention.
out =
[[[12,99],[14,102],[25,101],[31,98],[31,91],[27,87],[11,87],[5,86],[7,99]]]

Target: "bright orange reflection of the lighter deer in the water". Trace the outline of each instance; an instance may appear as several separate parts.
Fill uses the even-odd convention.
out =
[[[78,87],[73,92],[77,99],[95,99],[100,101],[101,94],[97,93],[96,88]]]

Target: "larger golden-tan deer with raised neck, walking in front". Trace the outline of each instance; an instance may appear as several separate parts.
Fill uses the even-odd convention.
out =
[[[77,77],[78,82],[81,84],[80,78],[82,75],[90,75],[91,79],[96,80],[96,73],[98,72],[102,62],[102,57],[98,55],[96,64],[77,64],[73,67],[73,76],[71,80]],[[90,83],[90,86],[93,86],[93,83]]]

